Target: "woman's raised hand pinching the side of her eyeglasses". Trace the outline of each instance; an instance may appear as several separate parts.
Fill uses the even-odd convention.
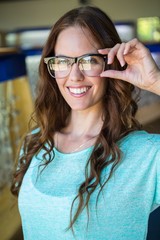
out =
[[[101,77],[124,80],[135,86],[160,95],[160,70],[153,60],[150,51],[137,39],[127,43],[116,44],[113,48],[100,49],[99,53],[108,54],[108,64],[116,56],[127,68],[124,71],[107,70]]]

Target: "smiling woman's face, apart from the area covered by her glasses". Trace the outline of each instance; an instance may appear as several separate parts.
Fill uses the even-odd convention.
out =
[[[97,54],[99,48],[87,30],[82,31],[77,26],[68,27],[57,38],[55,55],[79,57],[89,53]],[[56,82],[72,110],[99,109],[102,106],[106,80],[99,76],[83,75],[76,63],[67,77],[56,79]]]

